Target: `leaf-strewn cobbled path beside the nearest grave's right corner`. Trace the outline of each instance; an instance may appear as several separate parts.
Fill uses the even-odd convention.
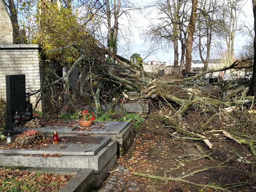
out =
[[[114,172],[115,174],[110,174],[98,192],[141,192],[137,183],[124,180],[123,177],[129,173],[128,169],[123,165],[117,166],[116,169],[119,169],[119,171],[117,173]]]

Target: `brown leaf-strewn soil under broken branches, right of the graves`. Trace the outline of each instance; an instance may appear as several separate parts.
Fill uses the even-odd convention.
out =
[[[126,183],[135,182],[136,191],[221,191],[208,188],[207,184],[221,185],[222,188],[230,191],[256,191],[255,176],[251,174],[255,171],[252,164],[256,158],[252,156],[246,145],[218,135],[218,138],[211,139],[214,147],[210,150],[204,142],[169,136],[174,133],[170,128],[144,126],[136,132],[135,142],[128,154],[118,159],[118,163],[128,168],[130,173],[125,175],[113,173],[124,178]],[[202,150],[198,150],[196,145]],[[207,154],[209,157],[196,159]],[[203,187],[181,181],[164,181],[133,175],[134,172],[139,172],[166,178],[179,178],[196,170],[217,165],[224,167],[207,169],[184,178]],[[129,186],[126,186],[126,191],[130,191],[128,188]]]

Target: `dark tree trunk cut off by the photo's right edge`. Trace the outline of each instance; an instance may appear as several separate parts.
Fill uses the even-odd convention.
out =
[[[254,62],[253,62],[253,73],[252,73],[252,79],[250,83],[250,89],[248,92],[249,96],[256,97],[256,0],[252,0],[252,6],[253,6],[253,16],[254,16]]]

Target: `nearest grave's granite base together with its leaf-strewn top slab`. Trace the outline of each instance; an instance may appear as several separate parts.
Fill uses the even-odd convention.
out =
[[[89,147],[86,144],[85,147],[80,147],[75,145],[77,143],[68,143],[61,145],[63,148],[52,144],[49,148],[39,150],[0,149],[0,166],[89,168],[94,169],[94,173],[100,173],[112,158],[117,158],[116,140],[111,140],[108,143],[106,141],[100,143],[96,141],[99,144],[92,144]],[[93,155],[93,152],[97,153]],[[43,154],[48,156],[43,156]],[[53,156],[50,156],[51,154]],[[61,156],[54,154],[61,154]]]

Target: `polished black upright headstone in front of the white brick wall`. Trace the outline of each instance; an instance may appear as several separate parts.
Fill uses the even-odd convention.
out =
[[[26,112],[26,79],[22,75],[5,75],[6,79],[6,121],[14,122],[15,112]]]

